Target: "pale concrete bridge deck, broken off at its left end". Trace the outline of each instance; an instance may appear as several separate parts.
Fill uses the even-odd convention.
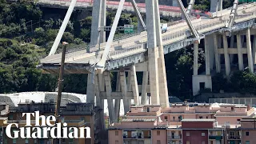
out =
[[[218,12],[218,18],[199,18],[192,20],[192,23],[194,24],[195,29],[198,30],[198,33],[204,35],[211,34],[219,30],[225,30],[224,26],[226,24],[226,20],[230,16],[229,12],[230,10],[222,10]],[[239,6],[234,30],[240,30],[253,25],[255,18],[256,3]],[[165,34],[162,34],[164,53],[168,54],[174,50],[182,49],[183,47],[190,45],[193,39],[187,38],[187,36],[190,36],[186,35],[188,30],[189,27],[186,25],[186,22],[169,26],[169,30]],[[145,60],[143,55],[147,51],[146,41],[146,31],[144,31],[141,34],[113,42],[109,53],[109,62],[106,62],[108,63],[106,69],[113,70],[119,66],[126,66],[133,62],[143,62]],[[98,62],[101,58],[105,45],[106,42],[102,43],[100,49],[98,46],[92,47],[90,53],[86,53],[86,49],[71,51],[70,53],[66,54],[66,63],[69,64],[69,66],[74,64],[81,70],[86,68],[86,70],[82,71],[81,73],[88,73],[90,72],[89,69],[91,66]],[[54,70],[54,67],[58,67],[60,62],[61,54],[54,54],[43,58],[41,60],[40,67],[52,73],[53,71],[50,70]]]

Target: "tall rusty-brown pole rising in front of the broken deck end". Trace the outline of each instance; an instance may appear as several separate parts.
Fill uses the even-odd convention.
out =
[[[64,63],[65,63],[65,54],[66,54],[66,45],[67,42],[62,42],[62,63],[61,63],[61,68],[59,70],[59,78],[58,78],[58,95],[57,95],[57,104],[56,104],[56,109],[55,109],[55,118],[56,122],[55,124],[58,123],[59,118],[60,118],[60,105],[61,105],[61,100],[62,100],[62,82],[63,82],[63,74],[64,74]],[[54,138],[54,144],[58,144],[60,142],[60,139]]]

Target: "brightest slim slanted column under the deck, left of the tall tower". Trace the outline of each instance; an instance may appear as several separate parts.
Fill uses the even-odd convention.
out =
[[[132,87],[133,94],[134,94],[134,104],[136,106],[138,106],[138,105],[140,105],[140,102],[139,102],[139,98],[138,98],[138,82],[137,82],[137,74],[136,74],[135,65],[131,66],[130,70],[131,70],[130,82],[131,82],[131,87]]]

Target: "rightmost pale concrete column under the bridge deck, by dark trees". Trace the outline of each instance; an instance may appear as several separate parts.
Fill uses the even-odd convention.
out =
[[[251,73],[254,72],[254,63],[251,51],[251,42],[250,42],[250,27],[246,30],[246,47],[247,47],[247,58],[248,58],[248,67]]]

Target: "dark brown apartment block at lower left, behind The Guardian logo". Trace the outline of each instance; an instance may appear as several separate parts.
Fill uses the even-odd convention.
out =
[[[22,113],[34,113],[34,111],[40,111],[40,115],[45,117],[54,115],[55,112],[54,102],[23,102],[19,103],[17,107],[10,109],[8,117],[0,118],[0,126],[2,131],[5,131],[6,126],[10,123],[18,123],[19,127],[25,127],[26,117],[22,117]],[[0,106],[1,107],[1,106]],[[60,143],[62,144],[94,144],[99,143],[99,132],[102,127],[99,125],[99,114],[101,109],[94,106],[94,103],[67,103],[66,106],[62,106],[60,110],[59,122],[66,122],[67,127],[90,127],[91,138],[62,138]],[[40,120],[40,122],[42,122]],[[34,126],[34,117],[31,117],[31,124]],[[54,124],[54,122],[52,122]],[[18,130],[17,128],[11,128],[11,132]],[[86,130],[84,131],[86,135]],[[26,133],[25,133],[26,134]],[[50,133],[48,134],[50,137]],[[79,131],[78,131],[79,135]],[[50,144],[53,143],[53,138],[8,138],[6,133],[0,134],[1,142],[4,144]]]

